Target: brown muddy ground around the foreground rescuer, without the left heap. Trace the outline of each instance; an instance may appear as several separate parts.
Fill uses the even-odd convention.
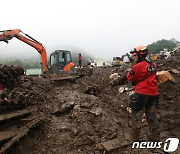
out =
[[[175,53],[167,60],[157,61],[157,69],[170,71],[175,79],[175,83],[168,81],[159,84],[160,102],[157,112],[162,142],[169,137],[180,138],[179,64],[179,53]],[[41,118],[42,121],[8,153],[150,153],[147,149],[131,148],[131,122],[129,112],[126,110],[128,94],[126,91],[119,92],[121,85],[109,84],[110,74],[114,72],[122,74],[128,67],[130,66],[95,68],[91,77],[86,76],[75,83],[48,83],[39,77],[31,77],[27,83],[24,80],[26,89],[39,92],[35,102],[33,100],[27,102],[25,108],[28,110],[35,108],[31,117]],[[172,69],[179,72],[173,73]],[[86,85],[92,87],[87,90]],[[38,102],[38,98],[41,101]],[[142,125],[141,139],[149,139],[146,123]],[[178,152],[180,153],[180,148]]]

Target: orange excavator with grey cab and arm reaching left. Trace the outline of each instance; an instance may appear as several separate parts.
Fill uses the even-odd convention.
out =
[[[72,62],[71,52],[67,50],[56,50],[50,54],[49,62],[47,52],[42,43],[32,38],[30,35],[22,32],[20,29],[11,29],[0,31],[0,41],[6,43],[12,38],[30,45],[35,48],[41,56],[42,75],[51,81],[68,80],[82,77],[75,70],[75,63]]]

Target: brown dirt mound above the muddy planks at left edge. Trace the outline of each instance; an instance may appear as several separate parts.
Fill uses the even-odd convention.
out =
[[[48,99],[46,92],[50,90],[50,82],[42,77],[31,77],[20,75],[15,77],[11,84],[8,80],[3,83],[5,88],[0,93],[0,106],[22,106],[27,107],[32,104],[45,103]],[[6,85],[11,85],[8,88]]]

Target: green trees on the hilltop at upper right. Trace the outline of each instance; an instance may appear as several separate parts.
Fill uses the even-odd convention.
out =
[[[173,39],[170,40],[158,40],[156,42],[153,42],[152,44],[149,44],[147,48],[150,50],[151,53],[159,53],[164,48],[167,48],[168,50],[174,49],[180,42]]]

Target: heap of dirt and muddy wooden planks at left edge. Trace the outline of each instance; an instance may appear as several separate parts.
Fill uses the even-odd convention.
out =
[[[0,91],[0,153],[8,153],[43,123],[46,116],[40,107],[45,108],[50,97],[46,93],[52,86],[44,78],[23,75],[18,67],[6,66],[0,71],[4,87]]]

